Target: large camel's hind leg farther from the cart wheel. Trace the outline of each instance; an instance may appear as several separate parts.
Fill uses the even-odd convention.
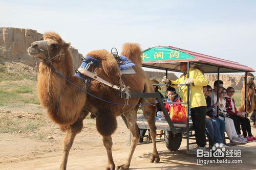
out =
[[[132,111],[126,112],[124,114],[124,116],[127,120],[128,128],[131,131],[131,136],[132,136],[131,137],[131,147],[130,147],[130,152],[129,152],[129,155],[128,155],[125,163],[122,165],[119,165],[117,167],[117,169],[122,169],[122,170],[129,169],[131,160],[133,157],[133,153],[134,153],[135,148],[139,142],[140,135],[139,135],[139,131],[138,131],[137,123],[136,123],[138,108],[139,108],[139,106],[135,107]]]

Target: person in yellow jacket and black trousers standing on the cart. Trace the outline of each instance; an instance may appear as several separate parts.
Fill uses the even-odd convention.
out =
[[[190,68],[189,78],[187,78],[187,63],[180,63],[180,70],[183,74],[177,80],[168,80],[165,77],[163,82],[172,84],[190,84],[190,113],[193,121],[196,142],[198,149],[206,150],[206,139],[205,139],[205,114],[207,111],[207,105],[203,93],[203,86],[208,85],[208,80],[204,78],[202,72],[199,69]],[[187,102],[187,87],[181,87],[183,102]]]

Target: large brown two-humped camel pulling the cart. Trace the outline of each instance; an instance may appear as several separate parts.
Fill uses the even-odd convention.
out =
[[[60,129],[66,132],[63,138],[63,155],[60,169],[67,168],[67,161],[76,134],[81,132],[83,119],[89,112],[96,117],[97,131],[102,135],[102,141],[106,148],[108,162],[106,169],[115,169],[112,157],[111,135],[117,128],[116,117],[123,114],[131,131],[131,148],[124,164],[117,169],[129,169],[133,153],[139,141],[139,133],[136,124],[138,104],[147,102],[151,105],[143,105],[142,110],[148,125],[153,142],[151,162],[160,161],[156,148],[155,99],[129,99],[129,104],[114,105],[87,95],[81,89],[100,99],[114,103],[125,104],[124,99],[119,98],[119,91],[96,80],[85,84],[80,78],[73,75],[73,58],[68,50],[70,43],[66,43],[54,32],[44,34],[44,40],[35,41],[28,48],[30,56],[41,60],[38,71],[38,96],[43,107],[47,109],[49,118],[60,125]],[[141,50],[136,43],[125,43],[121,55],[126,56],[133,63],[136,74],[121,75],[115,57],[106,50],[98,50],[87,56],[100,61],[99,66],[91,65],[89,71],[96,70],[95,74],[115,85],[119,85],[119,79],[132,92],[154,92],[150,78],[141,67]],[[97,67],[97,69],[96,69]],[[62,75],[62,78],[60,77]],[[64,80],[64,78],[66,80]],[[77,88],[79,87],[79,88]]]

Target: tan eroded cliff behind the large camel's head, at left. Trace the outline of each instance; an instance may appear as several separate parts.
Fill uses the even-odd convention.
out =
[[[0,59],[35,66],[35,59],[28,55],[27,49],[32,42],[38,40],[42,40],[42,34],[35,30],[0,28]],[[74,58],[75,68],[78,68],[82,62],[82,55],[73,47],[70,47],[70,52]]]

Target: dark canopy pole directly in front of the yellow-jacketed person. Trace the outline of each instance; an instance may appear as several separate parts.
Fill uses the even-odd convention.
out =
[[[187,79],[189,78],[190,62],[187,62]],[[190,113],[190,86],[187,84],[187,126],[186,126],[186,138],[187,138],[187,152],[189,152],[189,113]]]

